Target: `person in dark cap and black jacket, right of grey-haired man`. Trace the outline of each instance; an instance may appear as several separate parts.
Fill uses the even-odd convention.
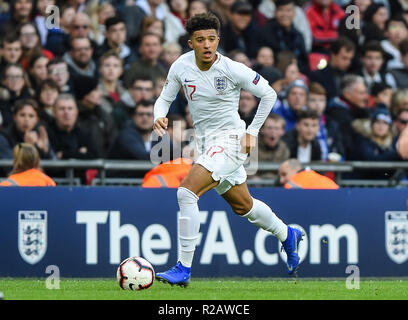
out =
[[[75,82],[78,127],[92,137],[98,158],[105,157],[116,135],[113,119],[102,109],[102,91],[96,78],[79,77]]]

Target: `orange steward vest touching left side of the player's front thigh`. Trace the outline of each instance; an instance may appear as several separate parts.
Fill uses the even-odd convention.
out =
[[[143,178],[143,188],[178,188],[192,167],[188,158],[178,158],[159,164]]]

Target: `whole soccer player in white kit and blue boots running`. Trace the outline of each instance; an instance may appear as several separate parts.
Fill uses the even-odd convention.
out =
[[[177,190],[179,261],[156,278],[172,285],[188,284],[200,228],[198,199],[212,188],[236,214],[282,242],[288,258],[287,271],[293,274],[299,265],[298,245],[303,234],[283,223],[264,202],[251,197],[243,166],[275,104],[276,93],[258,73],[217,52],[220,22],[213,14],[194,15],[186,29],[193,50],[172,64],[154,105],[153,129],[159,136],[165,134],[170,104],[183,87],[200,156]],[[241,88],[261,98],[248,128],[238,114]]]

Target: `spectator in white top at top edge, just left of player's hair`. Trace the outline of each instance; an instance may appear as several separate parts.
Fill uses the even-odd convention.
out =
[[[168,6],[169,11],[164,18],[164,41],[177,43],[178,39],[186,33],[188,1],[170,0]]]

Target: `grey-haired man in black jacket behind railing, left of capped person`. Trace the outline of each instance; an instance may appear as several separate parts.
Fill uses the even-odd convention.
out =
[[[95,143],[77,124],[78,107],[70,94],[60,94],[54,104],[53,121],[48,127],[51,147],[58,159],[95,159]]]

